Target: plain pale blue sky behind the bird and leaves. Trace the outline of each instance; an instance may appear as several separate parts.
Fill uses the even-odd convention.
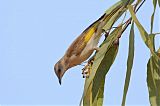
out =
[[[79,105],[82,66],[71,68],[62,85],[54,64],[72,41],[117,0],[0,0],[0,104]],[[157,8],[159,10],[159,8]],[[137,13],[150,31],[151,0]],[[129,15],[129,14],[128,14]],[[154,32],[160,32],[156,12]],[[128,57],[127,30],[106,77],[104,105],[120,105]],[[156,48],[160,36],[156,36]],[[135,28],[135,58],[126,105],[149,105],[146,64],[150,53]]]

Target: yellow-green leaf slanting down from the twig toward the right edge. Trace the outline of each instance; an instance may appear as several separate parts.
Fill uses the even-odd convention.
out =
[[[160,57],[157,56],[157,54],[154,52],[154,48],[153,48],[153,43],[151,42],[151,39],[149,37],[149,34],[146,32],[146,30],[143,28],[143,26],[140,24],[140,22],[138,21],[134,11],[133,11],[133,7],[131,5],[128,6],[129,12],[141,34],[141,37],[144,41],[144,43],[146,44],[146,46],[150,49],[151,54],[154,56],[154,58],[156,58],[158,60],[160,60]]]

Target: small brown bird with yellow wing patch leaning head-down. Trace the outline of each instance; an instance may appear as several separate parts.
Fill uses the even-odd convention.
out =
[[[64,73],[82,62],[86,61],[92,53],[99,48],[98,43],[102,36],[105,14],[87,27],[69,46],[64,56],[54,65],[54,71],[58,77],[59,84]]]

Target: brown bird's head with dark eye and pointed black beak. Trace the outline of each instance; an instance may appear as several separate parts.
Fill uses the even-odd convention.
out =
[[[62,77],[64,75],[64,73],[67,71],[67,68],[66,68],[66,64],[63,62],[63,60],[59,60],[55,66],[54,66],[54,71],[58,77],[58,80],[59,80],[59,84],[61,85],[61,80],[62,80]]]

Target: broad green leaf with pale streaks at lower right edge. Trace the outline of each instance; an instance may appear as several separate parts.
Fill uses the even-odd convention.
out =
[[[160,106],[160,61],[151,56],[147,64],[147,86],[151,106]]]

